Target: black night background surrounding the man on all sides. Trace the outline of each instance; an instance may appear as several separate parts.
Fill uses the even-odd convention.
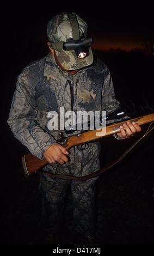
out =
[[[152,2],[7,2],[1,22],[1,245],[41,245],[41,198],[39,177],[24,179],[21,156],[27,149],[7,125],[17,76],[36,59],[48,54],[46,24],[60,11],[75,11],[89,25],[89,34],[113,48],[94,55],[108,65],[116,98],[131,117],[153,113],[153,13]],[[114,45],[116,38],[135,43],[132,50]],[[103,41],[103,39],[106,39]],[[105,45],[104,45],[105,47]],[[101,140],[101,166],[112,162],[144,135],[149,125],[125,141],[113,137]],[[96,234],[102,246],[153,245],[153,132],[144,138],[119,164],[101,174],[96,183]],[[65,240],[76,245],[71,196],[67,198]]]

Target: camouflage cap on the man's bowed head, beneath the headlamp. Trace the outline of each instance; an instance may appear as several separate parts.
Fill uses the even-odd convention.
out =
[[[84,40],[88,35],[87,23],[85,23],[79,15],[75,15],[79,27],[79,39]],[[47,37],[50,42],[67,42],[69,39],[73,39],[72,26],[68,13],[60,13],[52,17],[47,24]],[[82,59],[77,58],[74,50],[55,50],[55,52],[59,62],[67,70],[81,69],[93,63],[91,47],[89,47],[89,55]]]

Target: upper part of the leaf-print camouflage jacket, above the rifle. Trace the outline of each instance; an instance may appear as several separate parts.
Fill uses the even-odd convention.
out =
[[[70,84],[73,86],[71,101]],[[40,159],[58,138],[48,130],[47,114],[66,111],[107,111],[119,108],[107,66],[97,59],[94,66],[70,75],[61,70],[51,53],[28,65],[17,78],[8,124],[19,141]]]

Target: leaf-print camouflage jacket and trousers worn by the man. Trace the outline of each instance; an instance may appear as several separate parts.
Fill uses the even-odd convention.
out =
[[[14,136],[40,159],[44,151],[59,138],[58,131],[48,130],[48,112],[59,113],[61,106],[64,106],[65,112],[71,111],[70,81],[73,85],[75,113],[77,111],[109,113],[119,108],[109,70],[100,60],[97,60],[94,66],[79,70],[75,75],[61,70],[51,53],[28,65],[17,79],[8,124]],[[99,154],[98,143],[89,143],[89,148],[84,151],[79,151],[75,147],[70,150],[69,162],[64,165],[48,164],[45,170],[57,174],[87,175],[100,168]],[[94,228],[94,209],[91,207],[94,204],[96,179],[78,182],[41,174],[43,214],[48,215],[46,220],[50,221],[51,229],[56,228],[52,226],[53,220],[55,223],[59,222],[59,212],[63,208],[61,200],[68,183],[71,182],[76,230],[82,234],[90,233]]]

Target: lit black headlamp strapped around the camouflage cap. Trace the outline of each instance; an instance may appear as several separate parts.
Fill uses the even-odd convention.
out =
[[[89,47],[93,44],[93,39],[72,40],[69,42],[50,42],[50,46],[57,51],[74,50],[78,58],[85,58],[89,55]]]

